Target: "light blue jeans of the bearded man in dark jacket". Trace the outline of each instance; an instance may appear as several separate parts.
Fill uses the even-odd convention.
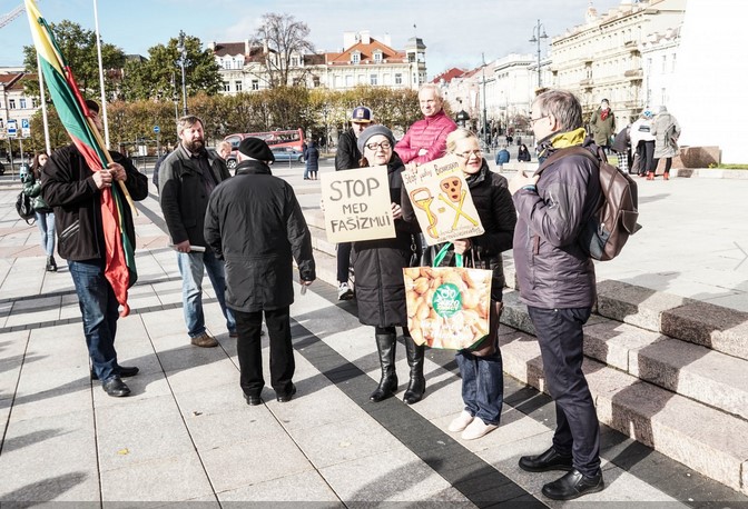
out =
[[[208,278],[216,292],[220,310],[226,317],[226,327],[229,332],[236,330],[234,313],[226,307],[226,277],[224,262],[216,258],[213,251],[178,252],[177,263],[181,275],[181,305],[185,311],[185,323],[190,338],[197,338],[205,332],[205,315],[203,313],[203,276]]]

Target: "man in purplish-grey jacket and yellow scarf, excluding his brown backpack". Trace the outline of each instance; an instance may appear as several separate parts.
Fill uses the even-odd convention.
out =
[[[530,472],[568,473],[543,486],[543,495],[571,500],[604,488],[600,470],[600,427],[582,372],[582,326],[596,298],[594,266],[580,232],[598,208],[599,171],[583,154],[565,148],[597,146],[585,140],[582,108],[570,92],[549,90],[538,96],[531,117],[540,174],[522,172],[510,181],[518,211],[514,265],[520,298],[528,305],[543,359],[543,373],[555,401],[557,429],[550,449],[524,456],[520,468]]]

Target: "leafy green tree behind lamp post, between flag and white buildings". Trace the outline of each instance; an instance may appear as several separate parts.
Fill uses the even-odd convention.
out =
[[[122,99],[173,100],[175,96],[181,101],[181,69],[177,49],[179,41],[173,38],[164,44],[156,44],[148,50],[148,59],[130,59],[125,64],[122,76]],[[208,96],[218,93],[223,81],[218,72],[218,63],[213,51],[203,49],[197,37],[185,37],[186,62],[185,83],[187,97],[204,92]]]

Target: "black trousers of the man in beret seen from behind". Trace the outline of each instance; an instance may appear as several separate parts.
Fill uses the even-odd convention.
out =
[[[270,341],[270,386],[278,395],[291,392],[292,379],[296,370],[294,348],[291,343],[291,315],[286,306],[265,310],[265,323]],[[236,352],[239,358],[239,385],[247,396],[259,396],[265,387],[263,378],[263,353],[259,332],[263,311],[244,312],[234,310],[236,318]]]

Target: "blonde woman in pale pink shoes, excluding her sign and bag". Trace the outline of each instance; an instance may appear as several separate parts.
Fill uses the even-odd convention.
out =
[[[452,432],[462,432],[463,440],[473,440],[499,427],[504,396],[504,377],[498,333],[502,308],[504,271],[502,251],[512,248],[516,212],[504,177],[489,169],[475,133],[459,128],[446,137],[446,153],[463,162],[463,173],[470,194],[485,232],[478,237],[457,239],[441,265],[452,265],[454,253],[462,255],[466,267],[493,271],[491,281],[491,332],[473,350],[456,353],[462,376],[464,407],[449,426]],[[412,207],[404,207],[406,220],[413,220]],[[441,246],[436,247],[437,249]]]

